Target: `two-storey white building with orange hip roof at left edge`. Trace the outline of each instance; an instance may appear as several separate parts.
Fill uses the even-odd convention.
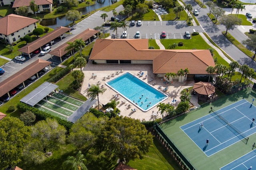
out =
[[[20,37],[24,37],[37,28],[37,21],[39,20],[16,14],[0,18],[0,39],[5,38],[9,44],[19,41]]]

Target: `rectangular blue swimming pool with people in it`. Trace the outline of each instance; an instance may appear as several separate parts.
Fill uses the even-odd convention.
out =
[[[129,72],[106,82],[106,85],[142,111],[148,111],[168,98],[166,94],[156,90]]]

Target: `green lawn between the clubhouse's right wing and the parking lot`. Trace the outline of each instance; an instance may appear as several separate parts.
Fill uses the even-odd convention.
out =
[[[208,49],[211,48],[210,45],[208,45],[204,39],[200,35],[192,36],[191,39],[161,39],[161,43],[164,45],[165,49],[168,49],[169,45],[172,45],[173,43],[179,43],[183,42],[183,46],[176,47],[175,49]],[[198,43],[200,42],[200,43]],[[213,58],[216,58],[218,60],[218,63],[224,64],[228,66],[228,62],[226,62],[218,53],[217,51],[214,51]]]

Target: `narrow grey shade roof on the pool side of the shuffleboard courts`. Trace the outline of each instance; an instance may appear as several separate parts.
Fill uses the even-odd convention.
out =
[[[71,121],[72,123],[76,123],[78,119],[80,119],[87,111],[89,111],[92,106],[96,106],[97,99],[89,98],[86,100],[82,106],[78,107],[78,109],[68,117],[68,121]]]

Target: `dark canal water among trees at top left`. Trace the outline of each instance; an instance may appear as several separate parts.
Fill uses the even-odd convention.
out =
[[[97,10],[98,8],[109,6],[109,4],[112,5],[118,1],[119,0],[96,0],[95,9]],[[85,2],[82,2],[82,3],[85,3]],[[90,12],[93,11],[94,5],[89,6],[89,10]],[[78,9],[78,11],[82,12],[82,15],[89,13],[88,6],[86,6],[86,8]],[[57,27],[60,27],[60,26],[67,26],[71,22],[72,21],[67,20],[66,16],[60,16],[57,18],[42,19],[42,21],[40,22],[40,25],[56,29]]]

